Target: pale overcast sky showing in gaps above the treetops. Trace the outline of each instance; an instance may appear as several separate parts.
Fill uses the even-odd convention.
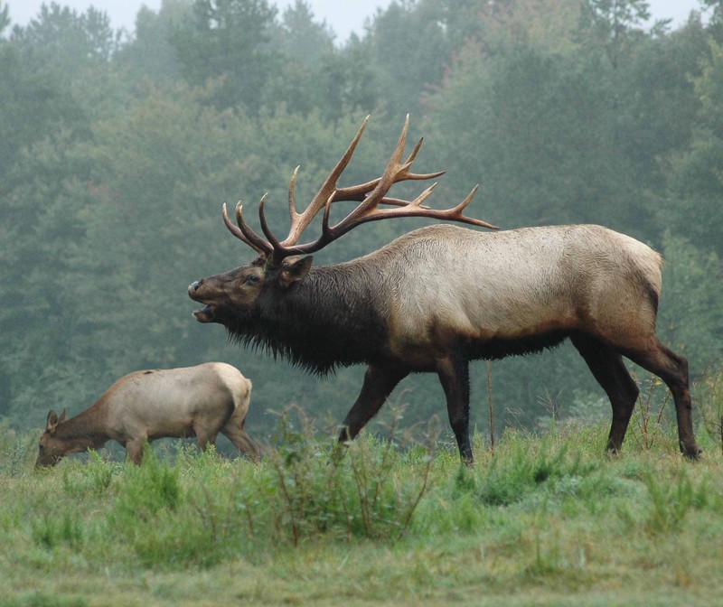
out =
[[[161,0],[56,0],[61,6],[70,6],[84,13],[89,6],[95,6],[110,17],[114,28],[125,27],[129,32],[134,29],[136,14],[142,5],[158,11]],[[294,0],[271,0],[277,5],[279,13]],[[3,5],[10,7],[12,23],[26,25],[39,14],[43,0],[5,0]],[[50,5],[49,1],[44,4]],[[312,7],[316,21],[326,20],[337,35],[337,42],[345,42],[350,33],[363,33],[364,19],[376,12],[378,7],[386,7],[390,0],[306,0]],[[673,19],[673,26],[684,23],[690,11],[700,10],[699,0],[650,0],[651,12],[655,19]]]

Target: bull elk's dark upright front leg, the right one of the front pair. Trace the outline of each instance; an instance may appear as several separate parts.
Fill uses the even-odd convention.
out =
[[[437,360],[437,375],[446,395],[449,425],[455,433],[459,455],[466,465],[474,463],[469,440],[469,362],[459,356]]]

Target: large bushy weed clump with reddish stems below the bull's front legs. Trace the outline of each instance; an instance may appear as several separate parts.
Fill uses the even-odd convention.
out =
[[[315,440],[308,420],[296,413],[302,430],[296,430],[286,410],[280,417],[283,447],[269,457],[277,481],[277,533],[290,532],[293,546],[329,532],[347,538],[401,537],[427,491],[429,454],[419,458],[418,450],[413,451],[415,462],[406,463],[421,468],[420,475],[401,482],[395,475],[399,452],[394,434],[384,443],[365,434],[340,453],[335,444]],[[390,428],[393,433],[396,424]]]

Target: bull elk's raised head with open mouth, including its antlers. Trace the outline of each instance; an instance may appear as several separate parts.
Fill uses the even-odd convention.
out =
[[[192,300],[205,304],[202,310],[194,312],[199,322],[220,322],[227,327],[230,324],[248,325],[253,322],[254,313],[259,296],[268,289],[284,292],[297,282],[304,279],[312,266],[312,257],[309,254],[320,250],[333,240],[342,237],[356,226],[368,221],[392,219],[396,217],[429,217],[433,219],[448,219],[461,221],[475,226],[496,229],[495,226],[481,219],[466,217],[463,213],[466,206],[472,201],[477,186],[469,193],[464,201],[452,209],[435,210],[427,207],[424,202],[434,191],[437,183],[433,183],[422,191],[413,201],[405,201],[387,196],[395,183],[405,181],[423,181],[434,179],[444,174],[412,173],[411,165],[414,162],[423,140],[402,161],[404,147],[407,140],[408,120],[404,127],[397,146],[390,156],[384,173],[377,179],[348,187],[339,187],[338,181],[349,161],[356,145],[362,137],[364,129],[369,122],[366,117],[357,134],[352,139],[341,160],[336,163],[332,172],[324,180],[315,197],[302,212],[296,210],[294,190],[299,167],[292,175],[288,190],[288,209],[291,219],[291,228],[288,236],[279,240],[268,227],[264,212],[266,194],[258,205],[258,218],[261,229],[266,238],[259,236],[243,217],[243,207],[240,202],[236,205],[236,224],[229,218],[226,205],[223,205],[222,216],[226,227],[246,245],[254,249],[258,258],[249,266],[239,266],[224,274],[213,275],[192,283],[188,287],[188,294]],[[359,201],[360,204],[338,223],[330,224],[330,211],[332,204],[339,201]],[[382,208],[381,205],[384,205]],[[313,219],[324,210],[322,219],[322,233],[315,240],[299,243],[304,230]],[[308,257],[298,257],[308,256]]]

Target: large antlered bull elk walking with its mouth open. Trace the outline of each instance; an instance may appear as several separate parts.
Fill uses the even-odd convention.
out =
[[[341,442],[360,432],[402,378],[437,373],[460,455],[468,463],[473,462],[469,361],[526,354],[569,338],[610,399],[608,450],[620,449],[638,396],[625,356],[671,389],[681,451],[698,457],[687,360],[655,334],[662,257],[634,238],[596,225],[478,231],[436,224],[352,261],[312,267],[309,254],[367,221],[415,216],[496,230],[463,214],[476,187],[446,210],[424,205],[436,184],[413,201],[387,196],[397,182],[444,173],[411,172],[422,140],[402,161],[408,118],[382,175],[339,187],[367,120],[303,212],[296,211],[296,169],[288,194],[291,229],[284,240],[268,227],[266,196],[258,208],[266,238],[249,227],[240,203],[236,225],[223,206],[227,228],[258,257],[189,286],[192,300],[205,304],[194,312],[196,320],[219,322],[232,339],[317,374],[366,364]],[[331,207],[338,201],[359,204],[332,225]],[[299,243],[322,210],[320,236]]]

